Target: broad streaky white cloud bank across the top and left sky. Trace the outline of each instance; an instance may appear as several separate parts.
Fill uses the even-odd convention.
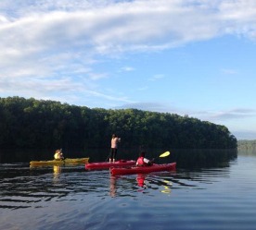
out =
[[[69,101],[76,89],[115,100],[97,87],[98,80],[110,78],[94,68],[101,57],[172,49],[225,34],[255,40],[255,22],[253,0],[2,0],[0,91],[40,98],[62,91],[62,101]]]

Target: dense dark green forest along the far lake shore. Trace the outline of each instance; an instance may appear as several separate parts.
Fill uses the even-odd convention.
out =
[[[237,148],[227,127],[187,115],[0,98],[0,149],[109,148],[113,133],[122,148]]]

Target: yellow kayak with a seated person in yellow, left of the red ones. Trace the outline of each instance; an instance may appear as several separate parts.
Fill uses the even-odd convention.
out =
[[[32,166],[40,165],[63,165],[63,164],[78,164],[78,163],[88,163],[89,157],[84,158],[66,158],[64,160],[52,160],[52,161],[32,161],[30,164]]]

